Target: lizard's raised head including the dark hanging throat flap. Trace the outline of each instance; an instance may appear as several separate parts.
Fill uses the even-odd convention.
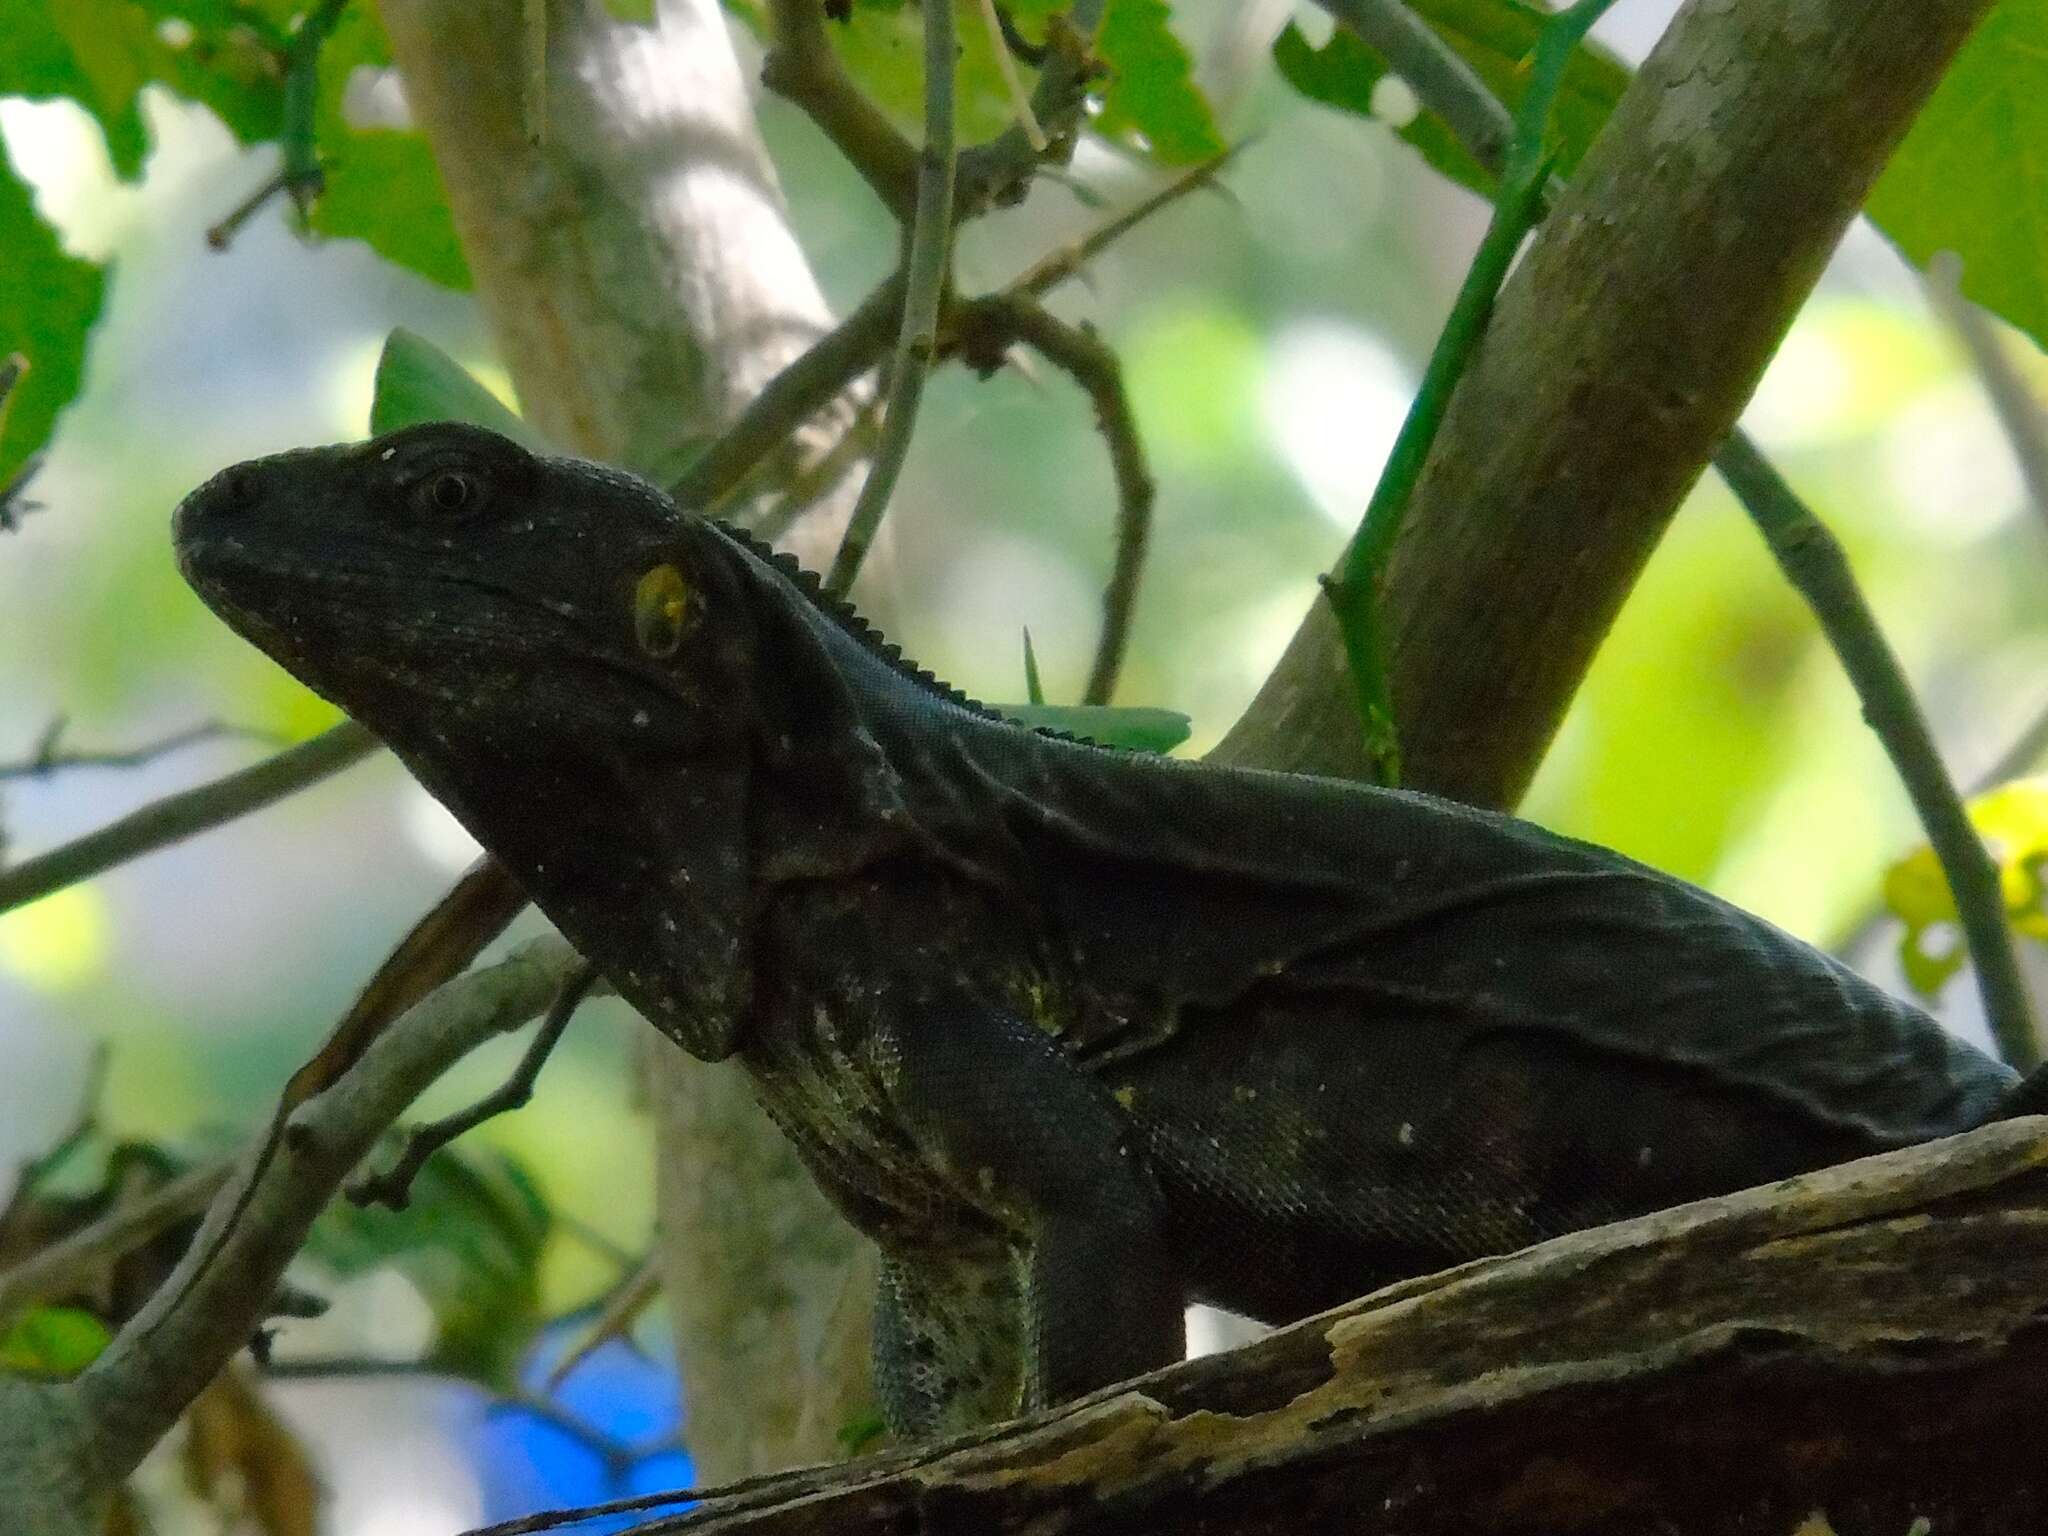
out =
[[[653,485],[461,424],[221,471],[199,596],[377,731],[686,1049],[743,1010],[754,606]]]

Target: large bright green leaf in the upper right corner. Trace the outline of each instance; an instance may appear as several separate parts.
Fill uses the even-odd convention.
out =
[[[1962,291],[2048,346],[2048,0],[1999,0],[1870,195],[1917,266],[1962,256]]]

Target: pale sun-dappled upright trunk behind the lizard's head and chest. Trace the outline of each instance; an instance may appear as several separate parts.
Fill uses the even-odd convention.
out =
[[[829,328],[717,0],[664,0],[657,31],[551,0],[541,145],[520,109],[518,0],[381,10],[483,313],[549,436],[670,477],[686,444]],[[848,416],[821,414],[793,453],[825,453]],[[836,512],[799,526],[799,555],[829,553]],[[696,1464],[737,1477],[831,1456],[866,1393],[864,1350],[846,1348],[864,1321],[840,1305],[856,1237],[739,1073],[676,1051],[651,1063],[662,1268]]]

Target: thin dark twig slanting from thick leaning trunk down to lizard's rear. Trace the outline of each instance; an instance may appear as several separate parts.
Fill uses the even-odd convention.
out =
[[[1999,1053],[2013,1067],[2030,1071],[2040,1063],[2040,1042],[2005,922],[1999,866],[1970,825],[1927,719],[1849,573],[1841,545],[1743,432],[1729,436],[1714,467],[1763,532],[1786,580],[1806,598],[1841,670],[1849,674],[1864,719],[1884,743],[1935,858],[1942,860]]]

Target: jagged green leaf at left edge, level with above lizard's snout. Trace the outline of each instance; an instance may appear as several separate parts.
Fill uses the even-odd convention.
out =
[[[0,145],[0,358],[20,352],[27,377],[0,422],[0,485],[49,440],[57,412],[78,393],[86,334],[100,313],[106,274],[66,256],[57,231],[35,213],[29,186]]]

